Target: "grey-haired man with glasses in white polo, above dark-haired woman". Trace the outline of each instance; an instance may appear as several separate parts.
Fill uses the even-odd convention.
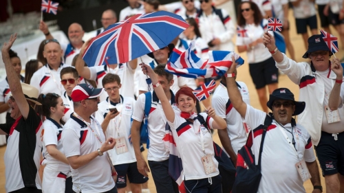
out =
[[[61,45],[56,39],[44,42],[43,56],[47,59],[47,64],[36,71],[30,81],[32,86],[39,89],[39,94],[57,93],[58,95],[63,95],[65,92],[60,82],[60,71],[69,65],[62,63],[62,54]]]

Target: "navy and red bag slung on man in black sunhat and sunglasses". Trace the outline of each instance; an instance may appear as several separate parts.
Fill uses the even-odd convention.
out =
[[[257,193],[261,180],[261,152],[263,152],[266,130],[271,123],[272,117],[266,115],[264,126],[260,128],[263,129],[263,135],[261,136],[258,165],[255,163],[255,155],[252,154],[250,146],[246,144],[239,150],[237,154],[237,176],[235,177],[232,193]],[[252,130],[248,137],[252,137]]]

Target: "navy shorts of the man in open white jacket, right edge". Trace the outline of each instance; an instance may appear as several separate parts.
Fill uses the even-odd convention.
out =
[[[332,174],[344,175],[344,132],[337,135],[334,140],[331,133],[321,131],[318,146],[314,146],[323,176]]]

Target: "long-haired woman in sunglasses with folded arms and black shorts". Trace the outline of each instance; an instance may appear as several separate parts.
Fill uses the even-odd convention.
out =
[[[250,76],[258,93],[261,108],[268,113],[268,96],[266,95],[266,85],[269,93],[278,88],[278,69],[275,67],[275,60],[263,44],[264,33],[267,32],[268,21],[263,19],[257,4],[252,1],[244,1],[239,5],[237,23],[238,52],[247,52]],[[270,32],[270,34],[273,33]]]

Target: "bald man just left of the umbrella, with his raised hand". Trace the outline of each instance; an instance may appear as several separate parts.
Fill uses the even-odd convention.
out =
[[[45,35],[45,39],[54,39],[52,34],[50,34],[47,24],[41,21],[39,24],[39,30]],[[63,45],[61,47],[64,50],[63,58],[65,59],[65,64],[72,65],[72,60],[76,54],[79,54],[81,47],[83,46],[83,36],[85,32],[83,27],[78,23],[72,23],[68,27],[68,38],[69,44]]]

